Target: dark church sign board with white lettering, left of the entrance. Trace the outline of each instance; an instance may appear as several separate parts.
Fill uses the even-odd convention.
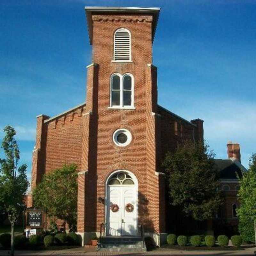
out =
[[[26,211],[27,228],[43,228],[44,211],[36,207],[28,208]]]

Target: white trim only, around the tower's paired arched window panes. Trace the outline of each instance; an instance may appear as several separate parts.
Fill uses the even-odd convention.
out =
[[[132,78],[132,93],[131,93],[131,105],[130,106],[124,106],[123,105],[123,101],[124,101],[124,83],[123,83],[123,79],[124,76],[131,76]],[[112,105],[112,77],[113,76],[119,76],[120,77],[120,105]],[[136,109],[134,108],[134,77],[132,76],[131,73],[125,73],[124,75],[121,75],[119,73],[114,73],[110,76],[110,102],[109,102],[109,109]]]

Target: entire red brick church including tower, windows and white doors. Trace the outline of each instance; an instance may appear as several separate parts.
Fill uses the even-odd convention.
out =
[[[32,190],[42,175],[77,164],[83,243],[99,235],[102,223],[109,236],[136,236],[142,224],[157,244],[164,241],[161,161],[182,140],[204,139],[203,120],[187,121],[157,103],[152,45],[159,11],[86,7],[92,64],[85,102],[57,116],[37,116]]]

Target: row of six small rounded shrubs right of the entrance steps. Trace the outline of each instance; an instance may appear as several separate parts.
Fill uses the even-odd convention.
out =
[[[189,241],[188,241],[189,240]],[[201,236],[176,236],[175,234],[169,234],[167,236],[167,244],[174,245],[178,244],[180,246],[186,246],[190,242],[191,245],[193,246],[200,246],[202,242],[202,237]],[[204,241],[206,246],[212,247],[215,245],[215,237],[214,236],[205,236]],[[220,246],[227,246],[228,245],[228,237],[225,235],[221,235],[217,237],[218,244]],[[240,247],[241,244],[243,243],[242,236],[231,236],[231,241],[232,244],[236,247]]]

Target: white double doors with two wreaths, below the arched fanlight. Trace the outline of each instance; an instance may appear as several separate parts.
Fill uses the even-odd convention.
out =
[[[137,201],[138,195],[136,191],[136,186],[108,185],[106,216],[107,235],[138,235]],[[127,204],[129,204],[130,206],[129,209],[125,209]],[[131,207],[131,205],[133,207]],[[118,211],[116,211],[117,209]]]

